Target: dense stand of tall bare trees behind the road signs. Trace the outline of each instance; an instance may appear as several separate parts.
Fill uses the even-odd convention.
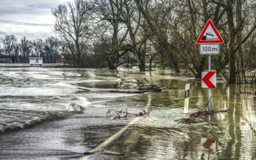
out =
[[[198,78],[208,61],[195,41],[212,19],[225,40],[220,55],[212,56],[213,68],[228,83],[256,83],[253,0],[75,0],[52,13],[77,67],[99,56],[94,63],[109,69],[137,65],[145,71],[154,65]]]

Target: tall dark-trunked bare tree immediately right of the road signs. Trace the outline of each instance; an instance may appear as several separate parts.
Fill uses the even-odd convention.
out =
[[[228,42],[228,55],[229,55],[229,83],[236,83],[237,82],[237,66],[236,66],[236,54],[237,52],[241,54],[241,47],[242,44],[246,42],[246,40],[253,34],[254,30],[256,29],[256,19],[254,17],[248,17],[246,14],[242,16],[242,7],[247,5],[247,1],[241,0],[227,0],[227,1],[215,1],[211,0],[212,3],[222,7],[223,10],[226,12],[226,20],[227,20],[227,30],[229,36]],[[255,2],[251,2],[254,3]],[[253,4],[250,4],[253,6]],[[235,6],[235,7],[234,7]],[[255,10],[255,9],[253,9]],[[236,15],[236,17],[235,17]],[[250,18],[253,21],[250,24],[246,24],[246,19]],[[237,21],[236,21],[237,19]],[[250,27],[249,32],[246,35],[241,35],[243,28],[245,26]],[[238,71],[239,72],[239,71]],[[239,77],[238,77],[239,79]]]

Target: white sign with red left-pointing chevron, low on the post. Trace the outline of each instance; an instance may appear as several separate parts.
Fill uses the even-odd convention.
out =
[[[216,88],[216,72],[202,72],[202,87],[203,88]]]

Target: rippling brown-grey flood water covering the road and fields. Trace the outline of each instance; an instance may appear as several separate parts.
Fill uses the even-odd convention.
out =
[[[117,74],[122,81],[116,81]],[[256,99],[238,91],[254,86],[212,89],[212,109],[230,109],[204,117],[202,124],[179,124],[184,88],[190,83],[189,113],[207,103],[200,80],[168,71],[139,73],[104,69],[0,68],[0,159],[255,159]],[[160,93],[86,92],[77,87],[137,89],[156,84]],[[108,109],[149,116],[113,120]],[[100,151],[84,155],[101,145]],[[111,155],[109,153],[124,155]]]

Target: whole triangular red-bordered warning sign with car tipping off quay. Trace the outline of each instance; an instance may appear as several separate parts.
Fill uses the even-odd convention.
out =
[[[212,23],[211,19],[209,19],[204,26],[203,31],[199,35],[198,40],[196,40],[196,44],[204,44],[204,43],[223,43],[222,37],[219,35],[216,27]]]

